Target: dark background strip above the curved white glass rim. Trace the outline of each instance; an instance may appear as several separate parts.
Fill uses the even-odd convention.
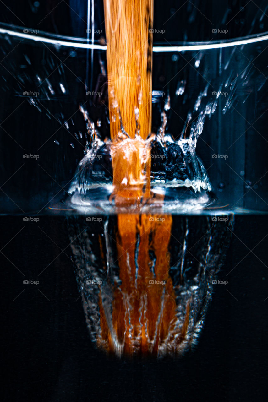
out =
[[[12,23],[60,35],[86,37],[87,1],[40,0],[2,1],[1,22]],[[103,2],[95,1],[95,29],[102,29]],[[154,35],[154,41],[210,41],[235,38],[268,31],[268,8],[265,0],[202,1],[167,0],[154,2],[154,27],[165,29],[165,35]],[[212,35],[212,29],[228,29]],[[163,39],[164,38],[164,39]]]

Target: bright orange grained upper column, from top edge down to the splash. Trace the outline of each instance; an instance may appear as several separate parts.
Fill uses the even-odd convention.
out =
[[[118,108],[130,137],[151,131],[153,0],[104,0],[110,131],[118,133]]]

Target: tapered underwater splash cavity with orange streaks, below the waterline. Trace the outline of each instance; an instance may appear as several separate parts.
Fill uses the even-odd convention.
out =
[[[118,215],[88,228],[72,219],[78,287],[97,347],[164,356],[195,345],[232,217]]]

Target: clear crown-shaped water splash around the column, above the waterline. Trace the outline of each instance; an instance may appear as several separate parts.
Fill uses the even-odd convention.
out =
[[[206,90],[203,93],[205,92]],[[116,104],[114,109],[116,109],[119,122],[118,135],[115,141],[107,138],[103,141],[89,113],[80,106],[88,127],[87,145],[85,157],[80,161],[68,191],[72,196],[72,204],[76,208],[91,208],[98,205],[106,210],[113,209],[116,205],[113,203],[113,197],[111,198],[112,194],[124,189],[137,191],[140,185],[144,187],[149,185],[149,199],[148,195],[145,198],[142,193],[137,195],[141,210],[144,207],[163,207],[164,209],[168,207],[169,209],[177,208],[177,210],[202,208],[211,201],[209,193],[212,188],[204,165],[196,156],[195,148],[198,136],[202,133],[206,115],[212,113],[213,107],[216,108],[212,103],[208,105],[206,112],[200,113],[186,137],[186,128],[191,120],[189,115],[187,127],[181,133],[181,137],[175,140],[171,134],[165,133],[167,112],[170,109],[170,98],[167,96],[161,113],[161,127],[157,134],[149,134],[143,140],[139,135],[139,109],[136,108],[134,111],[136,135],[130,138],[124,129],[120,110]],[[115,162],[118,158],[119,165]],[[131,166],[141,166],[140,172],[130,170]],[[149,176],[146,173],[148,169]],[[115,182],[115,178],[118,183]],[[163,197],[165,197],[164,203]],[[134,208],[137,208],[137,203]]]

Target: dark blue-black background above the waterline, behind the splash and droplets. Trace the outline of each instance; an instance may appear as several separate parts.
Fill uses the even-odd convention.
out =
[[[22,28],[78,35],[85,39],[87,3],[65,0],[37,3],[39,6],[29,1],[0,2],[0,20]],[[266,6],[265,1],[257,0],[179,4],[167,1],[165,6],[155,1],[154,26],[165,29],[165,33],[154,35],[154,43],[228,41],[264,33],[268,31]],[[102,29],[99,36],[104,37],[103,21],[102,2],[95,2],[95,29]],[[214,34],[214,28],[227,29],[228,33]],[[80,103],[85,105],[95,123],[101,119],[102,137],[109,136],[107,77],[100,78],[99,65],[99,59],[105,64],[105,52],[95,51],[91,70],[91,51],[75,46],[56,48],[6,35],[0,35],[0,43],[1,212],[43,213],[50,204],[64,199],[84,156],[86,127],[79,111]],[[220,96],[215,113],[210,119],[206,117],[196,148],[216,197],[230,210],[233,207],[268,210],[267,45],[266,40],[225,49],[174,54],[154,52],[153,56],[153,90],[163,90],[165,97],[168,93],[171,96],[167,132],[176,139],[183,132],[188,113],[192,113],[192,127],[206,103],[215,99],[212,91],[225,90],[224,83],[228,81],[226,90],[230,95],[231,83],[234,84],[238,75],[229,109],[223,114],[229,95]],[[196,67],[198,59],[200,66]],[[243,79],[242,72],[245,72]],[[92,88],[89,87],[91,79]],[[47,80],[54,95],[49,92]],[[176,96],[181,80],[186,80],[186,90],[183,96]],[[60,82],[66,88],[65,94],[60,90]],[[202,98],[198,111],[193,112],[198,95],[208,83],[208,95]],[[92,91],[103,92],[103,96],[97,99],[86,96],[86,84]],[[29,96],[24,96],[24,91],[40,92],[34,98],[35,106],[29,104]],[[161,125],[164,102],[163,97],[153,103],[155,131]],[[68,128],[65,122],[68,122]],[[39,159],[23,159],[24,154],[37,154]],[[227,154],[228,159],[212,159],[213,154]]]

